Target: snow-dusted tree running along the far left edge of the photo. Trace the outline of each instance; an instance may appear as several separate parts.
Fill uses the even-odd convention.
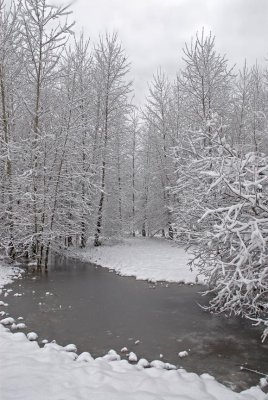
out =
[[[0,1],[0,247],[12,257],[18,245],[15,209],[16,177],[14,161],[19,148],[15,145],[15,121],[19,113],[16,91],[19,87],[20,24],[15,4],[6,8]]]

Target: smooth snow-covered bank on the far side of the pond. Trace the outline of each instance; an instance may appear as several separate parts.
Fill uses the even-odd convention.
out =
[[[152,282],[203,283],[197,271],[187,263],[190,255],[184,248],[165,239],[131,238],[112,246],[75,250],[74,256],[116,271],[123,276]]]

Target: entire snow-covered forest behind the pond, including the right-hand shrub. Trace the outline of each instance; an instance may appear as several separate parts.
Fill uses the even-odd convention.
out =
[[[0,0],[1,251],[41,267],[70,246],[161,235],[193,249],[209,309],[265,338],[266,65],[239,70],[193,33],[176,79],[152,71],[137,106],[118,35],[92,43],[73,26],[69,6]]]

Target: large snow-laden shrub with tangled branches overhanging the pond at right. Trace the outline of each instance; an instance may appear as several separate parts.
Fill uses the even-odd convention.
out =
[[[222,129],[210,141],[211,163],[195,171],[207,190],[192,264],[207,276],[208,292],[214,294],[210,309],[267,326],[268,157],[257,152],[238,156]],[[267,335],[266,328],[263,339]]]

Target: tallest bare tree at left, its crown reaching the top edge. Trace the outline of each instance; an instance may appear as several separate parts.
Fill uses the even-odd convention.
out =
[[[54,7],[46,0],[24,0],[20,7],[21,35],[23,39],[26,84],[31,93],[25,99],[29,113],[29,138],[31,141],[31,176],[33,236],[32,252],[41,265],[44,256],[42,234],[46,216],[46,152],[42,151],[46,139],[45,119],[48,117],[48,89],[57,82],[59,61],[73,23],[66,17],[68,6]],[[62,22],[63,21],[63,22]],[[47,120],[47,119],[46,119]]]

